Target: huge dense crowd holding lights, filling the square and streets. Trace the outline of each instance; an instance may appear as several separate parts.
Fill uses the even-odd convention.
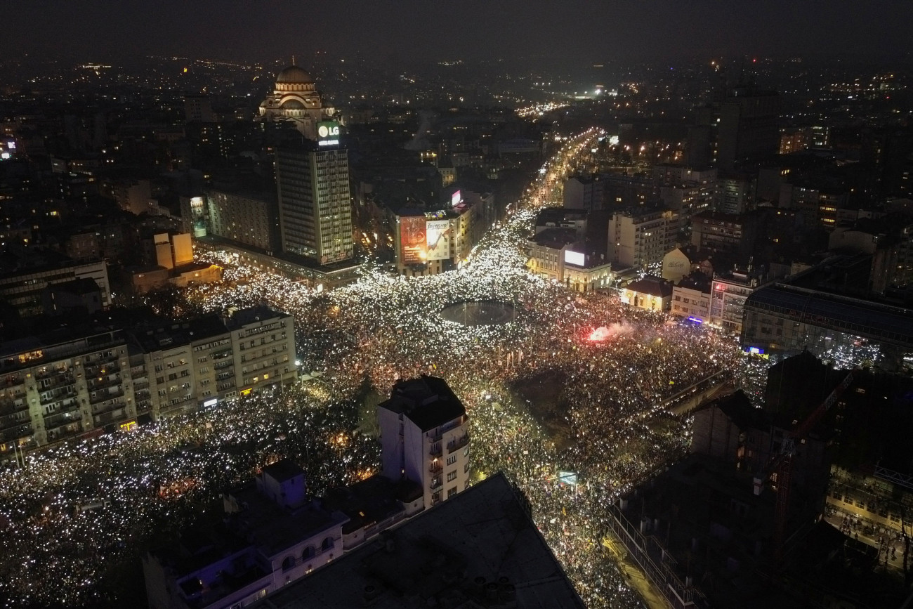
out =
[[[371,271],[319,293],[211,255],[226,268],[224,281],[184,290],[182,310],[288,311],[300,370],[316,380],[48,450],[0,473],[0,561],[8,574],[0,593],[64,605],[116,596],[108,585],[114,565],[138,563],[153,536],[178,530],[221,488],[279,457],[305,467],[317,495],[371,475],[380,447],[357,432],[364,388],[383,395],[397,379],[433,374],[467,406],[474,479],[503,470],[522,488],[588,606],[639,606],[601,545],[606,506],[687,450],[687,421],[669,415],[668,404],[708,378],[757,394],[766,367],[727,336],[527,272],[535,211],[553,201],[574,154],[600,135],[567,142],[456,271],[423,278]],[[518,315],[489,325],[441,317],[447,306],[477,300],[509,304]],[[517,390],[542,375],[561,379],[561,409],[551,404],[550,425]]]

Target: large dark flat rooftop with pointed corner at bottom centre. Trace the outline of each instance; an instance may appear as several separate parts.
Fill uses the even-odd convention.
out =
[[[498,473],[251,606],[561,609],[583,603]]]

